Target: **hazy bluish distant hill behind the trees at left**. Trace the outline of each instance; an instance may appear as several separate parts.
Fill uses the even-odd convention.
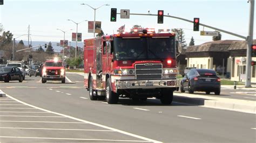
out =
[[[19,41],[17,41],[17,42],[19,42]],[[26,46],[28,46],[28,41],[23,41],[23,42],[24,42],[24,44]],[[51,44],[52,44],[52,47],[53,47],[54,51],[55,52],[60,52],[60,50],[62,50],[63,48],[59,47],[59,46],[56,46],[57,43],[59,43],[59,42],[52,42],[51,41]],[[29,42],[29,44],[30,44],[30,42]],[[45,42],[45,41],[32,41],[32,46],[33,47],[34,46],[42,45],[42,48],[45,50],[44,44],[49,44],[49,41],[48,42]],[[71,42],[71,46],[76,47],[76,42]],[[83,42],[77,42],[77,46],[82,48],[84,46],[84,44],[83,44]],[[34,50],[36,50],[36,49],[37,48],[34,48]]]

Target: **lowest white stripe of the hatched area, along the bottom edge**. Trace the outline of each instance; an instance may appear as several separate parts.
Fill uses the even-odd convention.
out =
[[[109,140],[109,139],[77,139],[77,138],[42,138],[42,137],[11,137],[0,136],[0,138],[22,138],[22,139],[55,139],[55,140],[90,140],[90,141],[125,141],[125,142],[150,142],[143,140]]]

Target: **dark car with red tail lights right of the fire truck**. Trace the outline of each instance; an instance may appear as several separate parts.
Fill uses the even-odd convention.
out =
[[[212,69],[190,69],[180,82],[180,91],[204,91],[206,94],[214,92],[220,95],[220,78]]]

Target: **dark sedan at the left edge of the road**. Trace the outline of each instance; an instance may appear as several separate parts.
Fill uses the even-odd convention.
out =
[[[0,68],[0,81],[9,82],[18,80],[23,81],[22,71],[17,67],[2,67]]]

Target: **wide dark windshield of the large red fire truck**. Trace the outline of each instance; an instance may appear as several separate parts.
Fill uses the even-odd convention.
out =
[[[114,38],[115,60],[163,60],[175,58],[175,38]]]

